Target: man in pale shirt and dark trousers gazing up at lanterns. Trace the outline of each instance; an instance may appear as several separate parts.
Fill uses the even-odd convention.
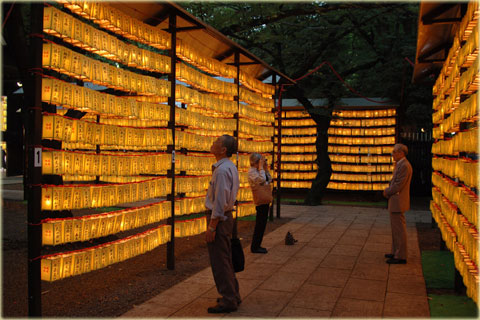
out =
[[[230,242],[233,232],[232,210],[240,182],[237,167],[229,158],[237,152],[237,141],[232,136],[223,135],[213,142],[210,152],[217,162],[212,166],[212,179],[205,199],[205,206],[211,210],[205,240],[213,278],[221,298],[217,299],[217,305],[207,311],[228,313],[236,311],[241,303]]]

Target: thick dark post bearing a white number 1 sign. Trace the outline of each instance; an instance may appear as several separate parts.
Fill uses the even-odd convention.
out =
[[[43,4],[32,3],[32,34],[43,32]],[[42,68],[42,39],[31,37],[31,66],[39,70]],[[27,97],[27,139],[26,148],[28,157],[27,193],[28,193],[28,315],[40,317],[42,315],[41,300],[41,198],[42,198],[42,77],[31,74],[33,92]]]

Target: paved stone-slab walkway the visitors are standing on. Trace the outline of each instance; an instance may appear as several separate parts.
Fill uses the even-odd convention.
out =
[[[415,222],[430,222],[430,212],[406,216],[408,263],[388,265],[386,209],[282,205],[282,217],[294,220],[265,236],[268,254],[245,248],[245,271],[237,273],[243,299],[237,312],[207,313],[218,297],[207,268],[122,317],[428,318]],[[293,246],[284,244],[287,231],[298,240]]]

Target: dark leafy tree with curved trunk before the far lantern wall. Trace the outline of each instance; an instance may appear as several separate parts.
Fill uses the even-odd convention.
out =
[[[297,79],[322,62],[327,65],[287,87],[317,123],[319,171],[307,203],[319,203],[331,174],[325,139],[340,98],[381,97],[399,104],[410,125],[431,128],[430,88],[410,84],[418,3],[372,2],[183,2],[192,14],[276,69]],[[342,83],[339,77],[345,82]],[[353,88],[358,94],[352,92]],[[315,109],[308,99],[327,98]],[[317,190],[314,190],[317,189]]]

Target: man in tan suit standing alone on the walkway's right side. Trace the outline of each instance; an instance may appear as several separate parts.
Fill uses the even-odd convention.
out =
[[[395,168],[390,185],[383,191],[383,196],[388,199],[392,227],[392,253],[385,254],[388,264],[407,263],[405,211],[410,209],[410,181],[412,180],[412,166],[406,158],[407,154],[407,146],[399,143],[393,147]]]

